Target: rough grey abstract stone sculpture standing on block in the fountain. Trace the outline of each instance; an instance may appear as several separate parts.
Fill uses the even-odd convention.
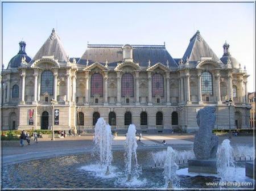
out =
[[[195,135],[193,151],[196,159],[216,158],[218,137],[212,133],[216,121],[215,108],[208,106],[197,112],[199,131]]]

